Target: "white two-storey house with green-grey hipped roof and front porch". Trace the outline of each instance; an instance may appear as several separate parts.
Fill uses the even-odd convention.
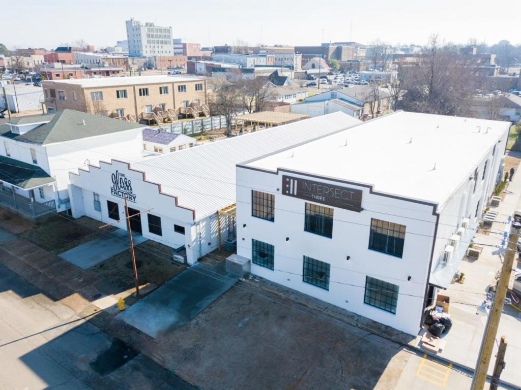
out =
[[[141,161],[145,126],[63,110],[0,126],[0,202],[38,216],[69,208],[69,172],[110,158]]]

